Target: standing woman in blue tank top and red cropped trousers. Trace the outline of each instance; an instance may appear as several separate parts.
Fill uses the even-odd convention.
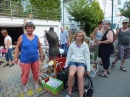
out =
[[[28,77],[30,69],[32,70],[35,88],[39,88],[38,76],[39,76],[39,53],[41,61],[44,60],[44,55],[42,52],[41,44],[37,35],[33,34],[35,30],[35,25],[32,22],[27,22],[25,24],[26,33],[22,34],[17,42],[15,48],[14,60],[18,63],[18,54],[21,49],[20,54],[20,67],[22,70],[21,74],[21,84],[24,92],[28,92],[26,84],[28,82]]]

